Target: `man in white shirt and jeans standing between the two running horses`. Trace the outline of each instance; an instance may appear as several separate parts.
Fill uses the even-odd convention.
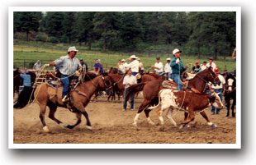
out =
[[[135,85],[135,84],[137,84],[137,79],[135,76],[132,75],[132,71],[128,70],[127,75],[125,76],[125,78],[123,80],[123,85],[125,85],[124,100],[126,100],[126,94],[127,94],[127,90],[129,89],[129,87],[131,85]],[[132,111],[134,110],[134,99],[135,99],[135,95],[130,97],[130,110],[132,110]],[[126,111],[126,102],[125,101],[123,104],[123,110]]]

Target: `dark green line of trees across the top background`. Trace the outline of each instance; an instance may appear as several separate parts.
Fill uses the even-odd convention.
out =
[[[14,34],[114,51],[181,48],[187,54],[230,55],[235,48],[232,11],[14,12]],[[47,35],[47,37],[45,36]]]

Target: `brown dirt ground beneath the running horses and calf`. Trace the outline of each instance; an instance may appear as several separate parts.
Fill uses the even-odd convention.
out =
[[[226,110],[219,115],[206,113],[218,127],[207,126],[206,121],[197,113],[191,127],[179,129],[164,117],[164,131],[159,131],[159,118],[156,112],[150,112],[156,126],[149,126],[145,113],[142,112],[136,130],[132,126],[142,98],[135,99],[135,111],[122,111],[122,103],[107,102],[100,98],[96,103],[89,103],[86,111],[92,123],[93,131],[86,127],[86,119],[73,130],[62,129],[55,121],[45,115],[45,122],[50,128],[49,133],[42,130],[39,118],[39,106],[36,103],[23,109],[13,109],[13,143],[14,144],[235,144],[236,118],[225,117]],[[178,126],[183,121],[183,112],[173,112],[173,119]],[[75,113],[65,108],[58,108],[55,117],[66,124],[74,124]]]

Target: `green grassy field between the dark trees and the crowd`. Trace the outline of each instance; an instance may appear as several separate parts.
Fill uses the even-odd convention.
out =
[[[36,62],[36,60],[41,60],[43,64],[49,63],[50,61],[53,61],[61,56],[66,55],[67,48],[69,46],[59,44],[50,46],[51,44],[20,44],[15,43],[13,47],[13,59],[14,59],[14,67],[21,66],[24,63],[26,63],[26,67],[31,67],[33,63]],[[111,66],[116,67],[116,63],[119,59],[127,59],[126,62],[129,63],[128,58],[131,54],[128,53],[101,53],[100,51],[94,50],[94,51],[88,51],[85,47],[77,47],[78,50],[80,48],[76,57],[83,57],[84,61],[88,63],[89,69],[92,70],[92,66],[94,64],[95,59],[101,59],[101,62],[104,66],[104,69],[109,69]],[[137,57],[140,57],[141,62],[143,62],[145,66],[145,70],[154,71],[150,69],[150,66],[154,65],[155,57],[147,57],[145,54],[135,54]],[[161,57],[161,61],[165,65],[166,58],[171,57],[173,58],[173,55],[171,54],[165,54],[165,55],[155,55]],[[207,58],[201,58],[197,59],[197,56],[188,56],[186,54],[182,54],[182,60],[183,64],[194,64],[195,61],[199,61],[201,64],[203,61],[208,61]],[[220,72],[227,69],[228,71],[234,71],[235,70],[235,61],[231,57],[226,57],[224,60],[218,59],[215,61],[216,66],[220,68]],[[24,60],[29,59],[29,60]],[[192,69],[191,68],[189,70]]]

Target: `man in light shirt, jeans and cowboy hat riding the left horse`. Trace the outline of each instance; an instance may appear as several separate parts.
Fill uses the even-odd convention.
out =
[[[75,71],[81,68],[81,63],[79,62],[78,58],[75,57],[78,53],[78,50],[73,46],[69,47],[68,54],[63,57],[59,57],[54,62],[50,62],[45,66],[59,66],[60,78],[63,84],[62,90],[62,101],[65,103],[69,101],[69,84],[70,81],[73,80]]]

